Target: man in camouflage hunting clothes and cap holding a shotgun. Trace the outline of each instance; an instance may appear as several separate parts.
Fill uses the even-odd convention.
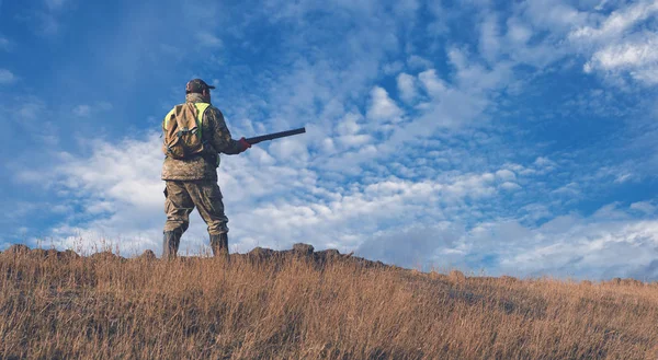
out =
[[[219,154],[239,154],[251,148],[245,138],[234,140],[224,121],[224,115],[211,105],[211,90],[215,86],[206,84],[201,79],[193,79],[185,85],[185,104],[172,109],[163,121],[167,138],[167,127],[170,120],[175,123],[177,108],[190,105],[196,108],[196,121],[201,131],[202,150],[191,156],[173,156],[168,154],[162,165],[164,189],[164,223],[162,258],[177,256],[181,236],[190,224],[190,212],[196,207],[198,213],[208,225],[211,248],[214,256],[228,259],[228,218],[224,213],[222,191],[217,185],[217,167]],[[172,115],[173,114],[173,115]],[[201,124],[198,124],[201,123]],[[188,131],[186,128],[183,129]],[[196,132],[195,132],[196,135]],[[167,148],[167,144],[166,144]],[[166,151],[167,153],[167,151]],[[174,159],[178,158],[178,159]]]

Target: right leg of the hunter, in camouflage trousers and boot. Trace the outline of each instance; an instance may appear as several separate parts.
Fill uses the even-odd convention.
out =
[[[188,182],[185,185],[198,214],[208,225],[213,255],[228,258],[228,218],[224,213],[219,185],[213,181]]]

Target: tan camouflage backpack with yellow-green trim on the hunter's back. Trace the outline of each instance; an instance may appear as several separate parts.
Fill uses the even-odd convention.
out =
[[[173,159],[190,159],[203,152],[203,114],[208,103],[175,105],[162,121],[162,152]]]

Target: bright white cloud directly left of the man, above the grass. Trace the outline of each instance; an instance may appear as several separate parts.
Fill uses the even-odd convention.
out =
[[[124,239],[116,245],[125,251],[157,244],[159,236],[154,231],[163,204],[163,184],[159,179],[162,156],[157,148],[160,141],[155,135],[146,142],[92,141],[87,144],[89,156],[60,153],[54,167],[37,176],[37,183],[65,190],[72,196],[69,201],[82,208],[77,217],[92,220],[55,227],[52,235],[56,245],[83,245],[89,249],[102,239],[113,242]],[[30,173],[25,170],[19,176],[31,178]]]

